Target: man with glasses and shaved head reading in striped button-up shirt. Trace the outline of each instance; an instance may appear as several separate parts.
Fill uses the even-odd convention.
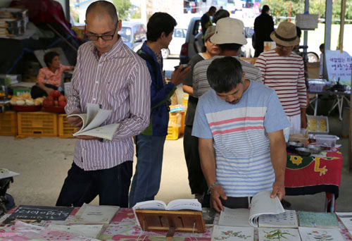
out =
[[[99,195],[100,205],[128,206],[134,147],[132,136],[149,124],[150,84],[146,63],[118,35],[115,6],[95,1],[86,12],[87,39],[78,49],[67,114],[87,113],[87,104],[111,109],[103,125],[119,123],[113,140],[78,136],[73,164],[56,206],[82,206]],[[82,121],[69,117],[80,128]]]

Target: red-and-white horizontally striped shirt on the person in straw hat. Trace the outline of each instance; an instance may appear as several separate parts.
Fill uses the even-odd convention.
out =
[[[286,115],[301,114],[307,103],[302,57],[294,52],[288,57],[279,56],[272,49],[260,54],[255,66],[260,69],[264,84],[275,89]]]

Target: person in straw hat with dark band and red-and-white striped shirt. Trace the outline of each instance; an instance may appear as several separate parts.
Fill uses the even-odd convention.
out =
[[[282,22],[270,37],[276,48],[260,54],[255,66],[260,69],[264,84],[277,93],[291,124],[290,133],[298,133],[307,126],[307,89],[303,59],[293,51],[299,44],[296,25]]]

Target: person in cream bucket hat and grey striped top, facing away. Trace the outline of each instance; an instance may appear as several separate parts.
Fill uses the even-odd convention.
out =
[[[201,97],[209,89],[208,78],[206,70],[210,63],[216,58],[223,58],[224,56],[233,56],[237,58],[239,63],[246,73],[246,79],[263,82],[263,77],[260,70],[246,61],[242,61],[238,55],[241,47],[247,44],[246,37],[244,36],[244,23],[236,18],[221,18],[218,20],[215,33],[210,37],[210,42],[218,44],[220,54],[213,58],[208,58],[204,61],[196,63],[193,70],[193,96],[196,98]]]

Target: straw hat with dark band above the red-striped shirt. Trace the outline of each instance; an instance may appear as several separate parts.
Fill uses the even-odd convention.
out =
[[[290,47],[299,44],[296,25],[290,22],[282,22],[277,30],[270,34],[271,39],[279,45]]]

